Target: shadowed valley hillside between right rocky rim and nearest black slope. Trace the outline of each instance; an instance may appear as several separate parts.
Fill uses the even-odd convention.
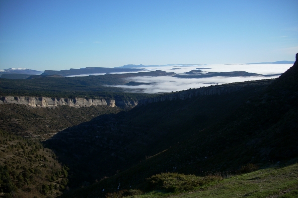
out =
[[[222,95],[138,105],[128,112],[98,116],[67,128],[45,144],[70,165],[71,187],[93,183],[177,145],[195,130],[223,120],[266,86],[264,83]]]

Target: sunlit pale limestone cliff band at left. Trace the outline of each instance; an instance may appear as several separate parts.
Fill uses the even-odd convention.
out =
[[[69,105],[74,107],[87,107],[96,105],[106,105],[115,107],[116,101],[113,99],[64,99],[64,98],[47,98],[47,97],[0,97],[0,104],[24,104],[31,107],[55,107]]]

